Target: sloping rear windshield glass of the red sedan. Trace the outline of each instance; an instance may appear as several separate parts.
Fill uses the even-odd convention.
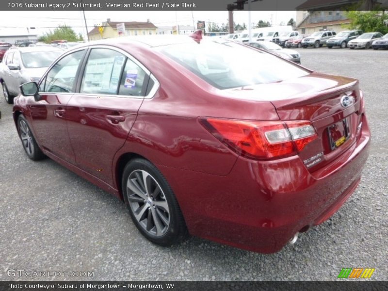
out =
[[[229,47],[202,41],[156,49],[218,89],[284,81],[309,74],[302,67],[243,45]]]

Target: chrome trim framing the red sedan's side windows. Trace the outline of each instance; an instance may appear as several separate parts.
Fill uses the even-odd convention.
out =
[[[39,92],[39,94],[44,94],[44,95],[58,95],[58,94],[61,94],[61,95],[68,95],[68,94],[71,94],[71,95],[76,95],[76,96],[98,96],[98,97],[121,97],[121,98],[133,98],[133,99],[151,99],[152,97],[154,97],[154,95],[156,94],[156,92],[158,91],[159,87],[160,87],[160,83],[158,81],[158,79],[155,78],[154,75],[152,75],[152,73],[142,64],[140,63],[136,58],[134,58],[132,55],[130,55],[128,52],[126,52],[125,50],[123,49],[119,49],[119,48],[116,48],[114,46],[109,46],[109,45],[90,45],[90,46],[85,46],[85,47],[81,47],[81,48],[76,48],[76,49],[72,49],[68,52],[66,52],[65,54],[61,55],[59,58],[57,58],[55,60],[55,62],[53,62],[51,64],[51,66],[49,67],[49,69],[43,74],[41,80],[43,80],[46,76],[47,76],[47,73],[49,72],[49,70],[56,64],[58,63],[61,59],[63,59],[65,56],[69,55],[70,53],[73,53],[73,52],[76,52],[76,51],[79,51],[79,50],[83,50],[83,49],[112,49],[112,50],[115,50],[123,55],[125,55],[129,60],[131,60],[133,63],[135,63],[136,65],[138,65],[142,70],[144,70],[146,72],[147,75],[149,75],[149,78],[152,79],[152,81],[154,81],[154,85],[152,87],[152,89],[149,91],[149,93],[146,95],[146,96],[131,96],[131,95],[109,95],[109,94],[101,94],[101,95],[98,95],[98,94],[84,94],[84,93],[61,93],[61,92]],[[87,65],[87,63],[86,63]],[[86,66],[85,65],[85,66]],[[80,76],[79,76],[80,77]],[[39,84],[38,84],[38,87],[40,86],[40,81],[39,81]],[[146,88],[147,89],[147,88]]]

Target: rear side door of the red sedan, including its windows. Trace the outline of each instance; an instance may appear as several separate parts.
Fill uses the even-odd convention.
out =
[[[145,98],[149,71],[128,53],[92,47],[67,104],[77,166],[113,185],[114,154],[124,145]]]

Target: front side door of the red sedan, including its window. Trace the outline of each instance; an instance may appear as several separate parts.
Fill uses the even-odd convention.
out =
[[[39,83],[40,99],[28,104],[32,128],[40,146],[55,156],[75,163],[66,128],[66,104],[72,97],[86,49],[64,55]]]

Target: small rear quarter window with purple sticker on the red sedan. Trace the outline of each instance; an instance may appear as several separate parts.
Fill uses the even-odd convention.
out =
[[[145,96],[148,75],[132,60],[127,59],[120,81],[119,95]]]

